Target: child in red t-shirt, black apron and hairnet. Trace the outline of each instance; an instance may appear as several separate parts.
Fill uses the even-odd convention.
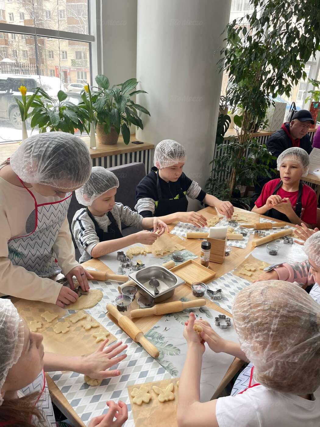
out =
[[[309,155],[299,147],[291,147],[277,158],[280,178],[272,179],[252,208],[253,212],[292,224],[304,223],[314,227],[317,223],[317,195],[311,187],[301,182],[308,175]]]

